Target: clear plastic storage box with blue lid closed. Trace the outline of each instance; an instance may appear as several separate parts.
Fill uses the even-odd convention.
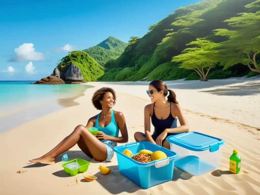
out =
[[[178,153],[174,166],[200,176],[220,166],[225,142],[203,133],[188,132],[168,136],[171,150]]]

